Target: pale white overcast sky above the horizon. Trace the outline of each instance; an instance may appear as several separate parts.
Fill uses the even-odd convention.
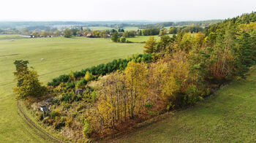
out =
[[[256,0],[1,0],[0,21],[211,20],[256,11]]]

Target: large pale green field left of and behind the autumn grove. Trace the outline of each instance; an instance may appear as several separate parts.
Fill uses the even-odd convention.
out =
[[[107,39],[42,38],[0,41],[0,142],[45,142],[18,115],[12,71],[17,59],[29,60],[46,84],[60,74],[68,74],[116,58],[142,53],[141,44],[120,44]],[[44,58],[44,61],[41,61]]]

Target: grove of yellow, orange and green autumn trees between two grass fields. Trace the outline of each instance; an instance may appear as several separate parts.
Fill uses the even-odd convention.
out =
[[[54,97],[50,106],[59,111],[40,120],[56,129],[79,128],[85,137],[105,136],[172,109],[192,106],[220,85],[246,78],[246,72],[256,64],[256,12],[201,30],[197,26],[181,31],[171,28],[177,33],[172,37],[162,34],[157,40],[150,36],[144,54],[53,79],[48,82]],[[159,28],[141,32],[158,35]],[[114,31],[113,42],[118,42],[119,37]],[[15,62],[16,92],[21,98],[33,96],[23,91],[37,95],[43,91],[37,74],[29,71],[27,63]],[[26,83],[34,88],[20,88]],[[83,92],[75,93],[78,89]]]

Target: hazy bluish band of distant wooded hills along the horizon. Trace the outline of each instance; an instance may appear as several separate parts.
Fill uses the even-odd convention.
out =
[[[167,26],[209,26],[212,23],[219,23],[221,20],[205,20],[205,21],[181,21],[181,22],[165,22],[165,23],[153,23],[153,22],[142,22],[142,21],[92,21],[92,22],[78,22],[78,21],[45,21],[45,22],[0,22],[0,28],[27,28],[31,31],[39,28],[45,30],[51,26],[106,26],[110,28],[124,28],[124,27],[138,27],[139,29],[145,28],[164,28]]]

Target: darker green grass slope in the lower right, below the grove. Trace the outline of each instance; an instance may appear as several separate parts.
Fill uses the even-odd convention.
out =
[[[249,74],[118,142],[256,142],[256,67]]]

